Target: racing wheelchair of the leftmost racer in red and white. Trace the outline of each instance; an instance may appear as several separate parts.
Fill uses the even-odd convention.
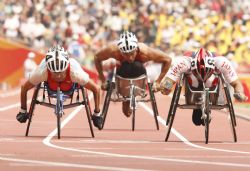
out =
[[[38,97],[40,90],[42,90],[42,98]],[[80,98],[80,92],[82,94],[82,98]],[[74,98],[74,95],[76,95],[76,98]],[[53,102],[52,99],[54,99],[55,102]],[[66,101],[67,99],[69,99],[70,102],[68,104],[64,104],[64,101]],[[42,82],[37,85],[34,90],[31,105],[29,108],[29,121],[26,128],[26,136],[28,136],[29,134],[32,116],[34,114],[35,106],[37,104],[55,109],[55,115],[57,118],[58,139],[60,139],[61,137],[61,118],[64,114],[63,110],[79,105],[84,105],[89,122],[90,132],[92,137],[94,137],[94,131],[91,122],[91,109],[89,104],[89,98],[86,89],[84,89],[82,86],[79,86],[78,84],[74,83],[69,91],[61,91],[60,87],[57,88],[57,91],[53,91],[49,88],[47,82]]]

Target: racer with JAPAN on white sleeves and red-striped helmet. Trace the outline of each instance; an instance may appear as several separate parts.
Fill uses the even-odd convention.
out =
[[[219,81],[215,74],[221,73],[226,82],[233,87],[234,97],[240,102],[247,100],[232,64],[227,58],[216,53],[200,48],[197,52],[187,51],[182,57],[175,58],[161,82],[161,93],[168,95],[183,73],[187,75],[188,84],[194,88],[203,87],[203,83],[207,88],[215,87]],[[193,110],[192,120],[196,126],[203,124],[201,116],[201,109]]]

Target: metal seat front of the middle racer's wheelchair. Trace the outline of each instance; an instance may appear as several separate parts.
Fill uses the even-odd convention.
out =
[[[135,96],[141,96],[146,90],[147,76],[145,74],[137,78],[123,78],[119,75],[115,77],[117,92],[124,97],[130,97],[131,85],[136,87]]]

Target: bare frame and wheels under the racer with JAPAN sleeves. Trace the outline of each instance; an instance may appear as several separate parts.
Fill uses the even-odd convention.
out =
[[[237,136],[236,136],[236,117],[235,117],[235,113],[234,113],[234,108],[233,108],[233,104],[232,104],[232,100],[231,100],[231,96],[230,96],[230,92],[228,89],[228,83],[226,83],[224,77],[222,74],[219,74],[219,78],[220,78],[220,83],[223,85],[223,89],[226,95],[226,104],[223,105],[212,105],[210,102],[210,97],[209,94],[210,93],[216,93],[217,89],[219,89],[219,85],[217,86],[217,88],[213,91],[210,91],[209,88],[205,88],[205,85],[203,84],[203,91],[192,91],[192,93],[201,93],[202,95],[202,103],[201,104],[196,104],[196,105],[181,105],[178,104],[179,102],[179,98],[180,98],[180,93],[181,93],[181,89],[183,86],[183,83],[185,81],[185,74],[181,75],[181,79],[180,81],[176,84],[175,90],[174,90],[174,94],[173,94],[173,98],[171,100],[171,105],[169,108],[169,112],[168,112],[168,117],[167,117],[167,121],[166,121],[166,126],[167,126],[167,135],[165,138],[165,141],[168,141],[170,132],[171,132],[171,128],[174,122],[174,117],[175,117],[175,113],[177,110],[177,107],[181,108],[181,109],[201,109],[202,110],[202,119],[204,122],[204,128],[205,128],[205,143],[208,143],[208,139],[209,139],[209,123],[210,123],[210,114],[211,114],[211,110],[221,110],[224,108],[229,109],[229,113],[230,113],[230,125],[231,125],[231,131],[233,134],[233,140],[234,142],[237,142]],[[187,84],[188,85],[188,84]],[[190,86],[188,85],[188,88],[190,89]]]

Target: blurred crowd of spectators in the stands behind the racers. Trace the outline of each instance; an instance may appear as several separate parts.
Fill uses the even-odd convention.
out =
[[[1,36],[40,52],[60,42],[89,68],[130,30],[171,57],[205,46],[250,73],[249,0],[1,0],[0,25]]]

